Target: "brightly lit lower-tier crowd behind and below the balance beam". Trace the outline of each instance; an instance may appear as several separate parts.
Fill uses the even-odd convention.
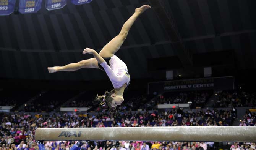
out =
[[[38,150],[33,137],[36,128],[75,128],[75,127],[136,127],[136,126],[230,126],[235,114],[232,110],[183,111],[173,109],[165,112],[131,113],[120,112],[109,115],[85,114],[0,114],[0,150]],[[247,123],[255,123],[255,113],[245,114]],[[251,125],[251,124],[250,124]],[[70,150],[68,141],[45,141],[46,150]],[[83,150],[117,150],[111,142],[84,142]],[[251,147],[251,145],[254,145]],[[120,142],[122,150],[206,150],[212,143],[199,142]],[[208,148],[205,148],[208,147]],[[233,146],[230,150],[239,150]],[[255,150],[255,144],[240,144],[240,149]]]

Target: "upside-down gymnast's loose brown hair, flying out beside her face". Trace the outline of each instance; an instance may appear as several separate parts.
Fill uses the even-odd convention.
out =
[[[111,107],[111,103],[113,101],[113,98],[111,97],[111,95],[115,93],[115,90],[111,90],[110,92],[109,91],[106,91],[104,95],[97,95],[96,97],[96,101],[100,101],[100,105],[102,107],[104,106],[108,106],[109,107],[109,111],[110,113],[116,113],[117,112],[117,108],[116,107]]]

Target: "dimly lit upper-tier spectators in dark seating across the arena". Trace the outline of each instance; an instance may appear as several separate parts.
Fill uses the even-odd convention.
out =
[[[5,93],[5,94],[4,94]],[[78,91],[47,91],[40,92],[18,92],[18,94],[6,94],[6,91],[0,92],[0,106],[13,106],[12,111],[17,111],[20,104],[26,104],[32,97],[34,98],[20,110],[25,112],[57,112],[62,107],[90,107],[89,111],[102,112],[106,108],[94,101],[97,93],[84,92],[79,95]],[[153,110],[157,104],[177,104],[190,102],[190,108],[204,108],[205,104],[212,96],[213,91],[186,91],[186,92],[166,92],[160,95],[143,95],[134,92],[125,95],[125,101],[122,105],[117,106],[117,111],[137,111]],[[8,95],[11,95],[8,97]],[[38,96],[40,95],[40,96]],[[79,95],[76,97],[76,95]],[[223,91],[218,93],[214,101],[214,107],[242,107],[255,106],[255,93]],[[19,99],[18,101],[16,101]],[[72,99],[70,101],[70,99]],[[67,103],[65,103],[67,102]]]

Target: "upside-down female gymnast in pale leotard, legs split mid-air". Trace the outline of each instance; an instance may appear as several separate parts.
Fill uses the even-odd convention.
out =
[[[101,105],[107,105],[109,107],[116,107],[122,104],[124,101],[123,92],[130,84],[130,75],[125,63],[120,60],[115,53],[120,49],[120,46],[122,46],[135,20],[149,8],[151,8],[149,5],[136,8],[134,14],[123,24],[120,33],[107,43],[99,54],[93,49],[84,49],[83,54],[92,54],[94,58],[82,60],[78,63],[71,63],[66,66],[48,67],[49,73],[55,73],[57,71],[76,71],[81,68],[105,70],[114,89],[110,92],[106,91],[105,95],[97,95],[96,99],[102,101]]]

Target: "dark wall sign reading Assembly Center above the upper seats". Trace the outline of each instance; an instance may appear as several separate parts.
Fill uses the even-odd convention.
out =
[[[177,81],[151,82],[148,83],[147,93],[164,93],[185,90],[232,90],[235,89],[234,78],[211,77],[202,79],[188,79]]]

